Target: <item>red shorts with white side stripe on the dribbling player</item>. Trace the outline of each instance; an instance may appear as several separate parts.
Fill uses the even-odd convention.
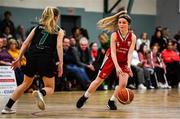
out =
[[[121,70],[125,73],[129,74],[129,70],[127,68],[127,62],[118,62]],[[105,55],[104,61],[102,63],[102,66],[100,68],[99,74],[98,76],[102,79],[106,79],[110,73],[112,72],[112,70],[114,69],[114,63],[112,61],[111,56],[107,57]]]

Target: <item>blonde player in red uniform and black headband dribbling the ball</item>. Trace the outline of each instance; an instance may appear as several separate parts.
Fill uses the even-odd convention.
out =
[[[77,101],[76,107],[81,108],[92,93],[101,85],[101,83],[109,76],[113,68],[119,78],[119,88],[126,88],[129,76],[133,76],[130,64],[133,50],[136,43],[136,36],[129,30],[131,18],[127,11],[123,8],[117,14],[103,18],[98,22],[98,26],[102,30],[111,31],[110,48],[107,50],[104,61],[96,79],[91,83],[87,91]],[[117,110],[114,94],[108,101],[110,110]]]

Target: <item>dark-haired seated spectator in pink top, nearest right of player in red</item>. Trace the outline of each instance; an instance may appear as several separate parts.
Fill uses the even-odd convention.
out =
[[[145,43],[142,43],[138,50],[138,56],[140,62],[143,65],[145,77],[147,79],[146,86],[152,89],[154,88],[154,86],[152,85],[151,75],[153,74],[154,71],[152,69],[151,61],[148,53],[149,51],[147,49],[147,45]]]

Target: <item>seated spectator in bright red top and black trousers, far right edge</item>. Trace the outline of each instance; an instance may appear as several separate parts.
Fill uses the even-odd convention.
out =
[[[167,48],[162,51],[162,59],[166,64],[167,78],[171,81],[171,85],[178,85],[180,88],[180,56],[174,50],[172,40],[168,41]]]

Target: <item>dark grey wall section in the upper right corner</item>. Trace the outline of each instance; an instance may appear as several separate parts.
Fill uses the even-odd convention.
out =
[[[179,0],[157,0],[156,26],[170,29],[170,37],[180,30]]]

